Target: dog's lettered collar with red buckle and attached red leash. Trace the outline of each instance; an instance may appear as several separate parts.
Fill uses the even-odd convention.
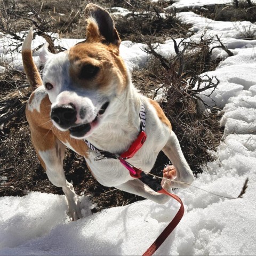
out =
[[[180,209],[176,213],[175,217],[172,219],[172,221],[167,225],[167,227],[162,231],[162,233],[157,237],[155,242],[150,245],[150,247],[147,249],[145,253],[143,253],[143,256],[151,256],[155,253],[155,251],[161,246],[161,244],[165,241],[165,239],[172,233],[173,229],[178,225],[181,218],[184,214],[184,206],[181,201],[181,199],[172,193],[169,193],[164,188],[162,188],[161,185],[159,185],[156,180],[151,178],[149,175],[147,175],[145,172],[143,172],[141,169],[135,167],[131,163],[127,162],[126,160],[133,157],[137,151],[143,146],[143,143],[146,141],[147,135],[145,133],[146,128],[146,110],[143,105],[141,105],[140,109],[140,133],[138,135],[138,138],[133,141],[130,148],[122,153],[121,155],[110,153],[108,151],[102,151],[98,148],[94,147],[92,143],[85,140],[86,145],[95,152],[98,152],[100,155],[94,158],[94,161],[101,161],[103,159],[118,159],[119,162],[130,172],[130,175],[132,178],[141,180],[145,185],[153,189],[155,192],[159,194],[164,194],[167,196],[172,197],[176,201],[180,203]]]

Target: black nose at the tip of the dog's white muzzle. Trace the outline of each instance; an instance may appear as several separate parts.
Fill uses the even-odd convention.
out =
[[[52,120],[63,129],[68,129],[76,122],[76,108],[73,103],[55,106],[51,110]]]

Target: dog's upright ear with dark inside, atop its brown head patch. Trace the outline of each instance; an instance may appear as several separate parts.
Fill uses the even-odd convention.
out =
[[[85,8],[87,21],[86,41],[113,44],[119,47],[121,40],[109,13],[95,4]]]

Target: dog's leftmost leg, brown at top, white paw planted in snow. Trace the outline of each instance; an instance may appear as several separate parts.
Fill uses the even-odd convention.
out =
[[[47,177],[54,186],[61,187],[66,195],[70,217],[73,220],[82,218],[75,190],[73,185],[66,180],[63,170],[66,146],[55,137],[52,131],[40,128],[31,129],[31,138]]]

